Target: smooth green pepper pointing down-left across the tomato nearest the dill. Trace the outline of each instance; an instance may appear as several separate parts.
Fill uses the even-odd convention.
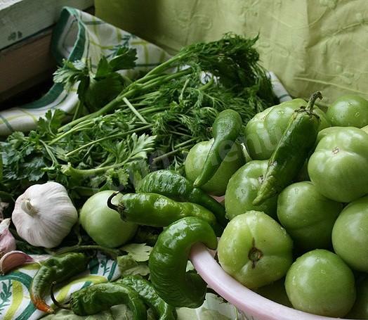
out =
[[[195,179],[195,187],[203,186],[220,167],[240,134],[242,118],[235,110],[223,110],[213,122],[212,129],[214,141],[204,162],[203,170]]]

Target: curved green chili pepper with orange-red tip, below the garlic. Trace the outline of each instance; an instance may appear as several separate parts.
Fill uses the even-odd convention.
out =
[[[44,300],[44,294],[50,290],[51,283],[63,282],[86,270],[89,260],[89,257],[83,253],[70,252],[51,257],[43,262],[32,279],[29,290],[34,306],[43,312],[53,313],[53,308]]]

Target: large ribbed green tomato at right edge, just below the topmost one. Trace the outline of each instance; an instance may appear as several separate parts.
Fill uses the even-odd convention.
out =
[[[328,130],[309,158],[308,174],[329,199],[349,203],[364,196],[368,193],[368,134],[355,127]]]

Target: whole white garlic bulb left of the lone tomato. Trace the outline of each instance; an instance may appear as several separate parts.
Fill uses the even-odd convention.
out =
[[[12,215],[18,234],[31,245],[53,248],[78,220],[67,190],[57,182],[34,184],[15,201]]]

